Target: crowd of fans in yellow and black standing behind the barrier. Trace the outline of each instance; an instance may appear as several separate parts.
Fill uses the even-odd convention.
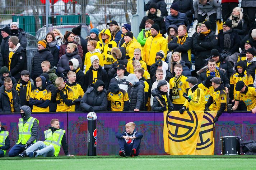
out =
[[[38,41],[31,73],[26,33],[10,23],[1,30],[0,112],[214,110],[214,122],[225,110],[256,113],[255,3],[174,0],[169,15],[164,5],[145,4],[136,38],[114,20],[84,38],[81,25],[53,29]]]

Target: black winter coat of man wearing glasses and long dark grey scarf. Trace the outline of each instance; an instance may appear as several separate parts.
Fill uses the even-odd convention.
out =
[[[223,34],[223,30],[220,30],[219,34],[218,34],[218,44],[216,45],[216,49],[219,51],[219,53],[222,53],[222,50],[227,49],[228,51],[235,53],[238,52],[239,53],[239,45],[240,45],[240,38],[238,33],[232,29],[232,31],[230,33],[227,33],[230,35],[230,40],[231,40],[231,46],[230,49],[227,49],[224,47],[224,34]],[[226,51],[227,51],[226,50]]]

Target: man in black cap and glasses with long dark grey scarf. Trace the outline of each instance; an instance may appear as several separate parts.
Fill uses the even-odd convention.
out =
[[[223,30],[219,31],[218,44],[215,48],[234,64],[239,54],[240,38],[237,31],[232,29],[232,20],[225,21],[222,27]]]

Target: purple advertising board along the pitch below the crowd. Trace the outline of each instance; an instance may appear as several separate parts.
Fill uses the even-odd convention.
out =
[[[87,113],[33,113],[32,116],[39,120],[38,140],[45,140],[43,132],[50,127],[50,121],[57,118],[60,120],[60,128],[66,130],[69,153],[87,155]],[[125,124],[128,122],[134,122],[135,131],[143,133],[141,155],[166,154],[163,143],[162,112],[98,112],[97,116],[97,155],[118,154],[119,146],[115,134],[124,132]],[[19,118],[19,113],[0,113],[1,124],[10,133],[11,147],[14,146],[18,136]],[[214,154],[220,154],[221,136],[240,136],[242,141],[247,141],[254,140],[255,133],[256,118],[252,113],[223,113],[215,123]],[[62,149],[60,155],[64,155]]]

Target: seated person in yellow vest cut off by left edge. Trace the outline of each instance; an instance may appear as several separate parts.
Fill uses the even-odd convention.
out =
[[[7,150],[10,149],[9,132],[5,130],[0,121],[0,157],[4,157]]]

